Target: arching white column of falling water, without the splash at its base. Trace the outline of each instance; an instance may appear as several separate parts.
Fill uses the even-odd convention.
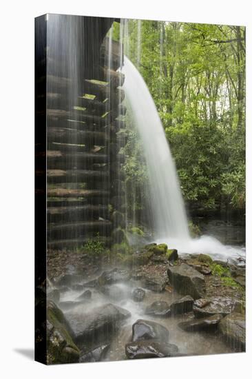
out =
[[[176,167],[158,111],[142,76],[127,57],[123,66],[123,89],[147,163],[156,238],[188,239],[187,216]]]

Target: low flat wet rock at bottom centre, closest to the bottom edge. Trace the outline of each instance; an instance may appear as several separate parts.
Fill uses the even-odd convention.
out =
[[[125,345],[125,354],[129,359],[164,358],[178,355],[178,347],[156,340],[136,341]]]

